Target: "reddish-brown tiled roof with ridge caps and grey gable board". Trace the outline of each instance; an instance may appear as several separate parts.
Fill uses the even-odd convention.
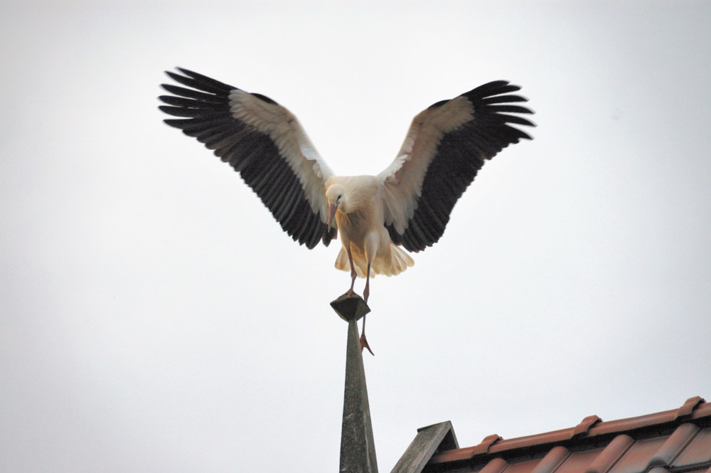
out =
[[[428,435],[436,445],[419,466],[408,466],[408,452]],[[569,429],[508,440],[489,435],[466,448],[442,422],[420,429],[410,447],[393,472],[711,473],[711,403],[695,397],[677,409],[609,422],[591,415]]]

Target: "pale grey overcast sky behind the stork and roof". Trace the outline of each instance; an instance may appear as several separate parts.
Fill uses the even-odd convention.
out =
[[[489,80],[530,99],[533,142],[371,281],[381,471],[434,422],[711,396],[709,1],[5,2],[0,55],[2,472],[338,468],[337,246],[161,122],[175,66],[282,103],[338,174]]]

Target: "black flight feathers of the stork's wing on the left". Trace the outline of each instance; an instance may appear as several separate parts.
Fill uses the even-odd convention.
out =
[[[268,134],[237,119],[230,111],[230,93],[237,87],[208,78],[185,68],[166,75],[179,85],[162,84],[169,94],[159,100],[159,109],[178,118],[164,119],[171,127],[203,142],[223,161],[232,165],[257,196],[262,199],[282,230],[300,245],[314,248],[335,238],[335,229],[326,228],[319,212],[314,212],[301,183]],[[277,102],[252,94],[270,105]]]

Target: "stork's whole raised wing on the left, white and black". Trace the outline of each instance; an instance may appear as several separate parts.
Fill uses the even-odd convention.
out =
[[[159,108],[180,118],[164,121],[230,163],[295,241],[328,245],[336,228],[326,228],[324,182],[333,172],[296,117],[264,95],[178,70],[166,74],[188,88],[162,84],[172,95],[161,95]]]

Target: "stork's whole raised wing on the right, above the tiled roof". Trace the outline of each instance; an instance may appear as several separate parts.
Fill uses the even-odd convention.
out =
[[[432,246],[444,233],[457,199],[486,159],[531,137],[511,124],[535,126],[513,114],[531,114],[517,85],[499,80],[437,102],[413,119],[384,181],[385,227],[410,251]]]

